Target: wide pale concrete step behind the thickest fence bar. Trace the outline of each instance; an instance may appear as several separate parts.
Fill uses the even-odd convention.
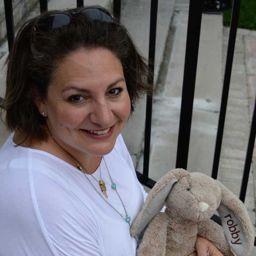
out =
[[[176,2],[176,28],[161,93],[154,96],[149,177],[158,180],[175,168],[180,120],[188,9]],[[188,1],[187,1],[188,5]],[[214,42],[214,44],[212,44]],[[222,16],[202,16],[188,171],[211,175],[222,92]],[[140,170],[141,171],[141,170]]]

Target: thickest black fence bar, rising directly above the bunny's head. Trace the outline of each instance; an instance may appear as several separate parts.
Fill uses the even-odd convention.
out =
[[[176,168],[187,169],[203,0],[190,0]]]

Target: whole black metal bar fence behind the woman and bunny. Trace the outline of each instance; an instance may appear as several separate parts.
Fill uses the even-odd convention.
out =
[[[83,0],[77,0],[77,6],[83,6]],[[196,82],[196,70],[197,70],[197,58],[198,58],[198,47],[200,38],[201,18],[203,10],[206,10],[206,3],[215,1],[206,0],[190,0],[190,8],[188,14],[188,30],[187,30],[187,42],[186,42],[186,54],[185,54],[185,67],[183,75],[183,88],[182,88],[182,101],[181,101],[181,113],[180,113],[180,126],[178,134],[178,147],[177,147],[177,159],[176,167],[187,168],[188,160],[188,148],[190,142],[190,130],[192,121],[192,110],[193,110],[193,99],[194,89]],[[230,1],[224,1],[225,6],[230,5]],[[7,39],[9,50],[11,49],[14,41],[14,19],[12,13],[12,1],[4,0],[5,4],[5,18],[7,26]],[[223,8],[225,8],[225,6]],[[207,6],[208,8],[209,6]],[[40,11],[48,10],[47,0],[40,0]],[[155,59],[155,41],[156,41],[156,18],[158,10],[158,0],[151,0],[150,10],[150,34],[149,34],[149,60],[150,68],[154,71],[154,59]],[[208,10],[208,9],[207,9]],[[215,153],[213,160],[212,177],[217,178],[218,166],[220,159],[220,150],[222,146],[222,137],[224,130],[226,107],[228,102],[229,84],[231,77],[231,70],[233,64],[233,56],[235,49],[236,31],[238,27],[238,17],[240,10],[240,0],[233,1],[230,34],[228,42],[228,52],[226,57],[224,84],[222,92],[222,101],[220,107],[219,123],[217,130],[217,139],[215,144]],[[121,0],[113,1],[114,15],[120,17],[121,14]],[[209,11],[209,10],[208,10]],[[149,79],[149,84],[153,86],[153,78]],[[2,99],[0,98],[0,103]],[[144,144],[144,164],[143,174],[137,172],[139,181],[152,188],[155,185],[155,181],[148,177],[149,171],[149,157],[150,157],[150,133],[151,133],[151,116],[152,116],[152,97],[148,96],[146,101],[146,121],[145,121],[145,144]],[[244,175],[242,178],[242,186],[240,191],[240,199],[244,202],[246,189],[248,184],[248,178],[250,173],[250,166],[252,161],[252,153],[254,149],[256,135],[256,104],[253,112],[251,131],[249,136],[249,143],[247,147],[247,154],[244,166]],[[221,224],[220,219],[214,216],[213,219]],[[256,239],[255,239],[256,246]]]

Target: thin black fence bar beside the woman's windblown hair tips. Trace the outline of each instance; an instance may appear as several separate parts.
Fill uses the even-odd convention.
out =
[[[155,42],[156,42],[156,20],[158,11],[158,0],[151,0],[150,6],[150,30],[149,30],[149,69],[154,73],[155,64]],[[154,76],[148,78],[148,83],[153,86]],[[143,175],[140,177],[141,182],[148,181],[149,173],[149,154],[150,154],[150,135],[151,135],[151,118],[152,118],[152,101],[153,95],[147,95],[146,99],[146,121],[145,121],[145,142],[144,142],[144,161]]]

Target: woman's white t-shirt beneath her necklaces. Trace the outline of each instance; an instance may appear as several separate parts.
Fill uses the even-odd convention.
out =
[[[14,147],[12,137],[0,149],[1,256],[135,255],[128,223],[81,171],[47,152]],[[105,160],[132,223],[146,193],[121,135]],[[125,216],[103,161],[101,172],[106,200]],[[99,168],[93,175],[100,179]]]

